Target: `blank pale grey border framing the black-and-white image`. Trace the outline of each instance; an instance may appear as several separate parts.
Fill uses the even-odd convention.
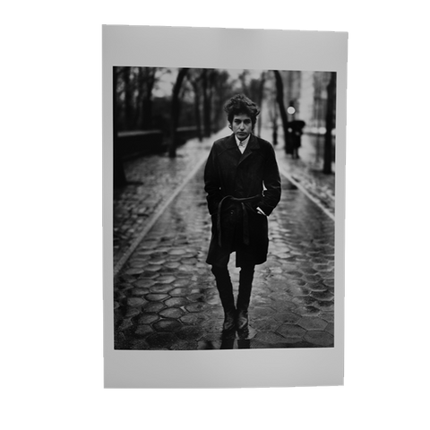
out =
[[[105,390],[343,386],[348,31],[251,30],[101,24],[102,280]],[[334,71],[336,221],[334,348],[202,351],[114,349],[114,65]]]

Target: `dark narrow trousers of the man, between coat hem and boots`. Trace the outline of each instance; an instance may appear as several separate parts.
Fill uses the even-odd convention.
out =
[[[246,311],[248,309],[251,300],[251,290],[253,288],[254,269],[254,264],[247,264],[240,268],[239,294],[236,303],[237,310]],[[226,312],[235,310],[233,284],[230,280],[227,264],[222,266],[213,265],[211,271],[215,275],[222,307]]]

